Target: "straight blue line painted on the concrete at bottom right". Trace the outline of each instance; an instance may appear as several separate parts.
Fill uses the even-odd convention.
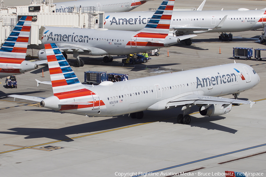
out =
[[[131,176],[131,177],[138,177],[138,176],[143,176],[143,175],[147,176],[148,174],[156,173],[156,172],[159,172],[159,171],[169,170],[169,169],[172,169],[172,168],[181,167],[181,166],[189,165],[189,164],[192,164],[192,163],[197,163],[197,162],[201,162],[201,161],[204,161],[204,160],[209,160],[209,159],[221,157],[221,156],[228,155],[228,154],[238,153],[238,152],[241,152],[241,151],[244,151],[244,150],[254,149],[254,148],[262,147],[262,146],[265,146],[265,145],[266,144],[262,144],[262,145],[252,146],[252,147],[249,147],[249,148],[235,150],[235,151],[232,151],[232,152],[229,152],[229,153],[223,153],[223,154],[220,154],[220,155],[215,155],[215,156],[203,158],[203,159],[200,159],[200,160],[194,160],[194,161],[191,161],[191,162],[182,163],[182,164],[174,165],[174,166],[171,166],[171,167],[166,167],[166,168],[162,168],[162,169],[159,169],[159,170],[142,173],[140,175],[135,175],[135,176]]]

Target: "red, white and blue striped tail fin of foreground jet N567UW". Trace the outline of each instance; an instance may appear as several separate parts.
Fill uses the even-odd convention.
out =
[[[56,44],[45,44],[44,47],[54,96],[69,94],[75,97],[75,92],[85,89],[85,86],[80,83]]]

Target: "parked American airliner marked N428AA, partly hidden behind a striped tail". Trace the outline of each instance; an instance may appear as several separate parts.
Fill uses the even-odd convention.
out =
[[[141,30],[153,12],[105,13],[104,28],[109,30]],[[249,10],[173,11],[170,29],[176,36],[205,32],[240,32],[262,28],[266,23],[266,8]],[[191,40],[185,40],[191,45]]]

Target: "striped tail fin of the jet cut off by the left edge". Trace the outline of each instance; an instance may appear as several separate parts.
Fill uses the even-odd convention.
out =
[[[4,59],[25,60],[30,36],[32,17],[23,16],[10,33],[0,49],[0,57]]]

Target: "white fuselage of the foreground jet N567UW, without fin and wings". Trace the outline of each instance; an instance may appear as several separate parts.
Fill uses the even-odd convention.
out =
[[[43,101],[44,107],[52,104],[54,106],[47,108],[60,112],[93,117],[117,116],[144,110],[165,110],[167,106],[174,108],[175,104],[171,106],[169,102],[179,98],[180,101],[183,101],[183,97],[190,94],[207,98],[208,96],[240,93],[253,88],[258,83],[259,75],[254,72],[252,67],[246,64],[232,63],[115,83],[105,81],[98,86],[87,87],[95,95],[74,99],[93,102],[96,98],[99,102],[97,104],[95,101],[92,105],[58,106],[60,101],[73,100],[73,98],[68,99],[64,95],[62,97],[57,96],[59,98],[56,96],[48,97]],[[185,104],[186,102],[184,102]]]

